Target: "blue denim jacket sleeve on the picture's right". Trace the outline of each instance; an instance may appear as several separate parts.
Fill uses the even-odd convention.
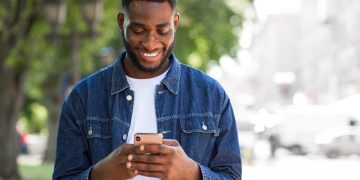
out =
[[[234,113],[228,98],[219,121],[219,136],[209,166],[200,166],[203,179],[241,180],[242,165]]]

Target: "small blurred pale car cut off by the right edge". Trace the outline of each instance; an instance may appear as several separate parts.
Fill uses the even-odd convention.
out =
[[[319,145],[319,152],[328,158],[360,155],[360,132],[323,134],[317,137],[316,142]]]

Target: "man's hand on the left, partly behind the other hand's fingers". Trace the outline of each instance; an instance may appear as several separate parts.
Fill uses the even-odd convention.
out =
[[[123,144],[99,161],[90,173],[90,179],[130,179],[137,171],[127,168],[129,154],[134,153],[133,144]]]

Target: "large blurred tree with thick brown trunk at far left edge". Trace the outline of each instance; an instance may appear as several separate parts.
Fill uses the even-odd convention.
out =
[[[18,135],[15,125],[22,107],[24,83],[32,52],[32,30],[39,20],[36,0],[0,2],[0,177],[20,179],[17,171]],[[26,42],[26,43],[25,43]]]

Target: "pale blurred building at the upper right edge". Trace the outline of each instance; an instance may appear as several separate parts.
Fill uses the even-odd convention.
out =
[[[299,17],[302,90],[316,103],[359,92],[360,1],[303,0]]]

